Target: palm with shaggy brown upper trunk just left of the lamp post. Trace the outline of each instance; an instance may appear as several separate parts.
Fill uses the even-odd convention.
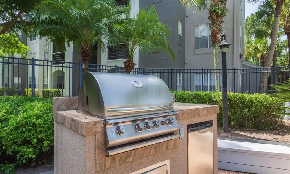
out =
[[[180,0],[180,2],[189,8],[193,8],[197,11],[209,12],[209,29],[211,31],[211,43],[213,45],[213,57],[214,68],[218,69],[218,45],[220,44],[220,38],[222,35],[222,26],[226,13],[229,11],[226,8],[227,0]],[[218,74],[218,73],[217,73]],[[215,77],[215,88],[219,89],[219,77]]]

